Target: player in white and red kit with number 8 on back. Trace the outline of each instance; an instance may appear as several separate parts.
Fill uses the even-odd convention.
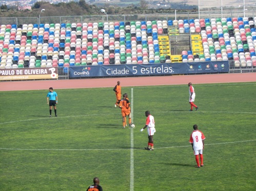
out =
[[[194,129],[194,131],[190,135],[189,142],[191,143],[193,151],[194,151],[195,161],[197,164],[196,167],[200,168],[200,166],[204,166],[203,149],[204,149],[205,136],[204,136],[203,132],[198,130],[197,125],[194,125],[193,129]],[[199,155],[200,155],[201,164],[199,162]]]

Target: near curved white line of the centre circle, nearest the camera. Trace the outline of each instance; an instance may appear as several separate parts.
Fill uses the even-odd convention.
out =
[[[218,142],[218,143],[212,143],[212,144],[205,144],[206,145],[227,145],[227,144],[236,144],[240,142],[251,142],[251,141],[256,141],[255,140],[240,140],[240,141],[231,141],[231,142]],[[183,148],[183,147],[191,147],[191,145],[186,145],[186,146],[173,146],[173,147],[159,147],[155,148],[156,150],[158,149],[172,149],[172,148]],[[21,151],[121,151],[121,150],[144,150],[144,149],[17,149],[17,148],[0,148],[0,150],[21,150]]]

